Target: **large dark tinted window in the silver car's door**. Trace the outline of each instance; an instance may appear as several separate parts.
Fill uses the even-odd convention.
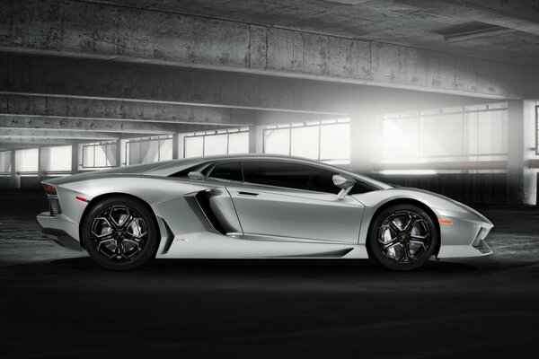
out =
[[[335,171],[291,162],[242,162],[246,182],[261,185],[339,193],[333,185]]]

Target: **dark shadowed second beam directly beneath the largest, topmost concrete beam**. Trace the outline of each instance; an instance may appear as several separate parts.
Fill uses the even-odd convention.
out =
[[[0,53],[0,92],[167,101],[257,112],[340,116],[466,106],[484,98],[270,76]],[[23,75],[21,75],[23,74]]]

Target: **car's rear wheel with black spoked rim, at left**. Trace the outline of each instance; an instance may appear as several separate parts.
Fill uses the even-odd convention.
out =
[[[142,266],[154,258],[159,235],[154,215],[129,197],[110,197],[90,209],[83,223],[84,248],[112,270]]]

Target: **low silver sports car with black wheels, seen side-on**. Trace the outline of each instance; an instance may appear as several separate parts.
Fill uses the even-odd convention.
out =
[[[43,233],[109,269],[150,258],[375,258],[410,270],[492,253],[492,223],[468,206],[301,158],[200,157],[43,187]]]

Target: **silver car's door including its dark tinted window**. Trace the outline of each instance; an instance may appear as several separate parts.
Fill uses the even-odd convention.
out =
[[[244,161],[243,183],[226,186],[246,237],[358,242],[364,206],[337,198],[337,172],[297,162]]]

